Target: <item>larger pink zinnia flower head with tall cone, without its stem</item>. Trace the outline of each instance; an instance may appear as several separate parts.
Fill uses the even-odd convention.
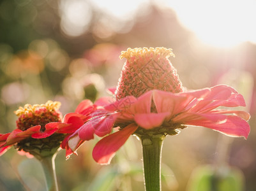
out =
[[[185,90],[169,59],[167,48],[128,48],[121,53],[126,62],[116,88],[116,101],[103,103],[93,118],[70,136],[75,152],[94,134],[103,137],[93,150],[93,158],[109,164],[116,151],[135,134],[144,137],[174,135],[186,125],[207,127],[227,136],[247,138],[250,115],[224,107],[245,106],[243,96],[227,85]],[[119,130],[110,134],[113,127]],[[142,143],[143,144],[143,143]]]

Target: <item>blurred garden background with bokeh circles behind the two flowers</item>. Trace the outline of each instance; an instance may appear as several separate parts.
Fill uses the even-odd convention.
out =
[[[165,190],[256,190],[256,1],[1,0],[0,131],[15,129],[13,111],[26,103],[61,101],[63,115],[82,99],[115,87],[128,47],[172,48],[184,87],[225,83],[246,99],[247,140],[188,127],[163,145]],[[97,140],[79,155],[56,158],[60,190],[143,190],[140,142],[131,137],[109,166],[91,157]],[[39,162],[11,148],[0,158],[0,190],[45,190]],[[220,182],[219,181],[219,182]],[[235,188],[228,188],[229,183]],[[207,187],[207,186],[206,186]]]

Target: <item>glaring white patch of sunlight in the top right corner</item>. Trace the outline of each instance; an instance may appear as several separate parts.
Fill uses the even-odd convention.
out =
[[[203,43],[219,47],[256,43],[256,1],[163,1]]]

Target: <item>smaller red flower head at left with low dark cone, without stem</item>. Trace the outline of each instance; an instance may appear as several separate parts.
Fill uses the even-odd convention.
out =
[[[38,159],[56,153],[63,139],[75,132],[84,122],[82,108],[77,113],[69,113],[62,118],[59,112],[61,103],[47,101],[45,104],[26,104],[15,111],[19,117],[17,129],[0,134],[0,155],[14,146],[19,153]]]

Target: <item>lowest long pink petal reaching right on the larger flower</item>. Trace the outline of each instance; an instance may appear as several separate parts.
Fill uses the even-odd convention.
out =
[[[213,129],[227,136],[248,138],[250,125],[240,117],[227,115],[227,120],[223,123],[213,123],[209,120],[195,120],[186,122],[187,125],[197,125]]]

